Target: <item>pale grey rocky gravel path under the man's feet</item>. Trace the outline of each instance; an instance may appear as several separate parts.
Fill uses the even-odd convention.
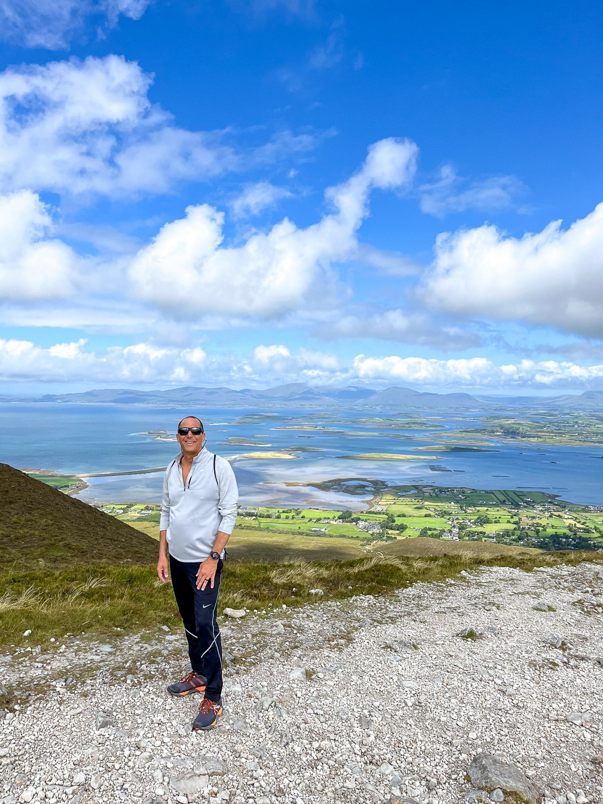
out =
[[[225,713],[199,699],[179,632],[61,638],[0,657],[0,802],[501,801],[484,752],[544,802],[603,802],[603,572],[488,568],[391,597],[225,621]],[[32,635],[34,636],[34,635]],[[0,717],[2,717],[0,712]]]

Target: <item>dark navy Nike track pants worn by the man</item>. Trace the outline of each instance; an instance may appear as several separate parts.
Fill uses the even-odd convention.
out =
[[[200,561],[178,561],[170,556],[170,573],[178,611],[187,634],[191,668],[207,679],[205,697],[217,701],[222,695],[222,642],[219,636],[217,606],[219,582],[222,579],[220,559],[215,572],[214,588],[209,583],[197,589],[197,570]]]

